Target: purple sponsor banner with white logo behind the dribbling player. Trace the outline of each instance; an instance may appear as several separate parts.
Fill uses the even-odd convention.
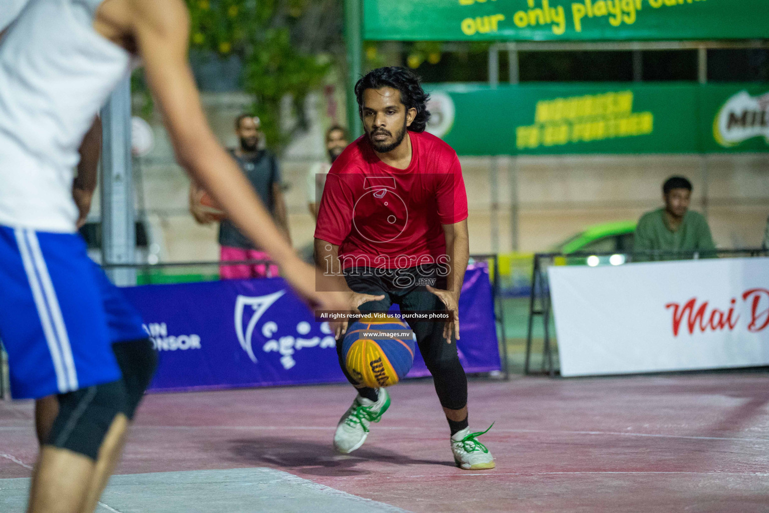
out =
[[[282,278],[123,288],[158,349],[154,391],[345,381],[328,323]],[[468,267],[457,347],[465,371],[499,370],[488,266]],[[417,353],[409,377],[429,375]]]

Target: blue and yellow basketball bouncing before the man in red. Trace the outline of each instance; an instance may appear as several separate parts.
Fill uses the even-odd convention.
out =
[[[368,316],[353,323],[341,346],[352,378],[371,388],[395,385],[404,378],[414,365],[414,340],[371,336],[371,331],[409,329],[403,321],[390,316]]]

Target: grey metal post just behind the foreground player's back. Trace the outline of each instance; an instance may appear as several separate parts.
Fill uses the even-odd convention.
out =
[[[102,108],[102,264],[134,263],[134,181],[131,168],[131,79]],[[136,285],[135,268],[112,268],[115,285]]]

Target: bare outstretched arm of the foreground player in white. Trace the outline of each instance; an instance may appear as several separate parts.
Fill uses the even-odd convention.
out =
[[[221,205],[241,232],[278,261],[292,287],[311,302],[340,308],[338,295],[315,291],[312,268],[298,258],[238,165],[211,132],[187,61],[190,21],[184,2],[130,2],[131,31],[179,164]]]

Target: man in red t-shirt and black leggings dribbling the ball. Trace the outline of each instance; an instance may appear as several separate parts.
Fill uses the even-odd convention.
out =
[[[494,468],[494,458],[468,428],[468,381],[453,335],[468,265],[468,199],[456,152],[424,132],[428,95],[405,68],[378,68],[355,85],[365,135],[328,172],[315,255],[327,274],[345,277],[352,310],[453,313],[447,323],[408,321],[434,378],[461,468]],[[346,323],[336,326],[341,337]],[[371,422],[389,408],[384,388],[367,388],[339,363],[358,395],[334,437],[337,451],[361,447]]]

